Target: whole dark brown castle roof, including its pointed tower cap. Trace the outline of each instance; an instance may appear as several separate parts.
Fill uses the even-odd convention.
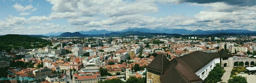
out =
[[[195,51],[169,61],[160,54],[148,65],[147,69],[161,73],[161,83],[203,82],[195,73],[213,59],[229,56],[231,55],[225,50],[221,50],[218,53]]]

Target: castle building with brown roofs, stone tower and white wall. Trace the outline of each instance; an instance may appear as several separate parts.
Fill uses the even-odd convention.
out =
[[[146,67],[147,83],[202,83],[215,64],[228,57],[231,55],[225,50],[216,53],[195,51],[171,61],[159,54]]]

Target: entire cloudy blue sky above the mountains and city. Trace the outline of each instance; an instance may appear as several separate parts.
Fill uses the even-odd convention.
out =
[[[256,31],[256,0],[0,0],[0,35],[128,27]]]

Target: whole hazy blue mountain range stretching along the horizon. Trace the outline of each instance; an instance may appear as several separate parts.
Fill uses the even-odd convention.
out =
[[[237,33],[237,34],[244,34],[244,33],[254,33],[256,31],[250,31],[250,30],[239,30],[239,29],[227,29],[227,30],[186,30],[186,29],[167,29],[167,28],[161,28],[157,27],[154,29],[151,28],[131,28],[124,29],[121,31],[107,31],[107,30],[90,30],[90,31],[78,31],[81,34],[87,34],[87,35],[99,35],[99,34],[110,34],[112,32],[122,33],[122,32],[146,32],[146,33],[167,33],[167,34],[189,34],[189,35],[195,35],[195,34],[217,34],[217,33]],[[56,33],[47,33],[47,34],[41,34],[45,36],[52,36],[52,35],[60,35],[64,32],[56,32]]]

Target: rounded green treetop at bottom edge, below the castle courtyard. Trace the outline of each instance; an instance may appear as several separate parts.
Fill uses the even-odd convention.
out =
[[[247,83],[246,78],[242,76],[234,76],[228,80],[228,83]]]

